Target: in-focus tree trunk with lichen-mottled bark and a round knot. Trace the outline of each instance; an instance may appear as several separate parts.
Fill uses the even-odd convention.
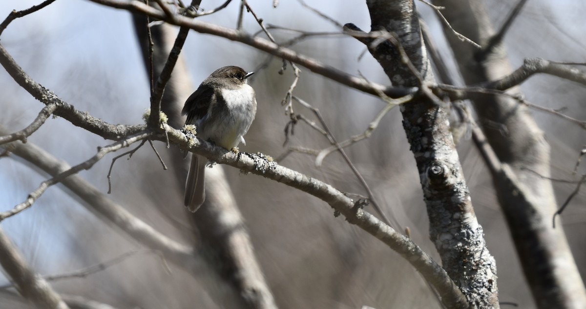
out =
[[[373,0],[367,1],[367,5],[372,32],[394,33],[397,42],[355,36],[369,46],[370,53],[393,84],[424,89],[427,83],[433,83],[414,2]],[[353,25],[347,25],[346,29],[356,30]],[[399,48],[409,61],[401,57]],[[482,227],[472,208],[449,131],[447,110],[436,102],[421,91],[416,101],[401,105],[403,127],[420,173],[431,240],[440,253],[444,269],[464,292],[469,304],[498,308],[495,260],[486,248]]]

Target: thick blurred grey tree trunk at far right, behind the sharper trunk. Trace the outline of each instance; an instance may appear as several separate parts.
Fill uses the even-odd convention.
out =
[[[481,46],[495,35],[482,1],[437,0],[452,27]],[[481,54],[445,29],[466,84],[498,80],[512,73],[499,44]],[[519,94],[518,88],[509,92]],[[562,228],[554,229],[557,210],[550,177],[550,146],[532,115],[515,99],[471,95],[486,138],[502,162],[492,170],[499,202],[517,254],[540,308],[584,308],[586,294]],[[561,226],[558,224],[557,226]]]

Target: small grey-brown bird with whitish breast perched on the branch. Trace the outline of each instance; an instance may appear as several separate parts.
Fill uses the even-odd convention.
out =
[[[256,95],[246,79],[254,72],[227,66],[214,71],[185,101],[181,115],[195,125],[197,137],[236,151],[256,114]],[[195,212],[206,198],[206,157],[192,154],[185,183],[185,206]]]

